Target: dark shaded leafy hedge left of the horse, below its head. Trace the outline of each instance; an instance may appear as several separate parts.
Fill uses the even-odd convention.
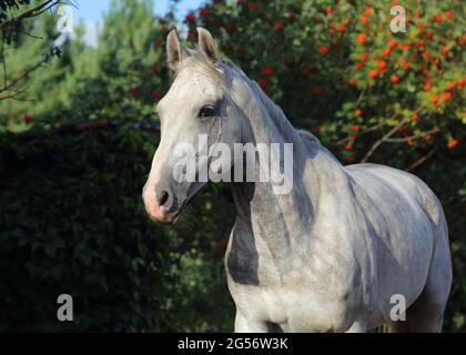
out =
[[[2,135],[0,152],[1,332],[231,328],[212,257],[229,227],[201,222],[227,202],[205,202],[211,189],[186,217],[194,225],[150,223],[141,191],[153,146],[140,133],[33,130]],[[62,293],[73,296],[72,323],[57,321]]]

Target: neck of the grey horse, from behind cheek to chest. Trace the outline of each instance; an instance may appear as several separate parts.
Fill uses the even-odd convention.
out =
[[[270,182],[259,182],[259,170],[255,182],[233,183],[236,223],[263,239],[274,262],[287,267],[292,253],[306,253],[320,191],[328,183],[323,178],[341,174],[342,166],[320,143],[303,141],[283,111],[261,90],[252,91],[252,99],[243,108],[247,120],[242,132],[249,133],[243,134],[242,143],[293,143],[293,190],[275,194]]]

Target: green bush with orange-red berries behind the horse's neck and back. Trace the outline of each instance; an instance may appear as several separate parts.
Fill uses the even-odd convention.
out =
[[[347,162],[396,126],[375,159],[396,145],[396,165],[407,168],[460,135],[466,42],[459,1],[403,6],[407,32],[396,34],[381,1],[214,1],[189,26],[211,29],[296,125],[341,142]]]

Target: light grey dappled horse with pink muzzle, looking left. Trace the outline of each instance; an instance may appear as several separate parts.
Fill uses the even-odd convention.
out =
[[[209,149],[293,144],[287,192],[274,190],[283,181],[261,180],[259,168],[255,180],[230,183],[236,217],[224,265],[234,331],[368,332],[387,325],[391,332],[440,332],[452,261],[435,194],[401,170],[342,165],[237,65],[220,58],[207,30],[197,28],[197,38],[190,49],[175,30],[168,34],[174,80],[155,106],[161,139],[142,192],[149,216],[175,223],[207,183],[175,179],[178,144],[195,145],[201,134]],[[244,161],[225,156],[221,173],[241,175]],[[211,159],[191,159],[196,174],[211,168]],[[275,159],[282,166],[284,158]]]

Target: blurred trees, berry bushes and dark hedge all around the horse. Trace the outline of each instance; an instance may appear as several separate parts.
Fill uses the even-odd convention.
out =
[[[388,164],[429,184],[454,263],[444,329],[466,329],[460,0],[214,0],[182,19],[176,1],[154,16],[152,1],[115,0],[97,47],[81,23],[60,55],[6,90],[59,36],[57,7],[4,26],[38,3],[6,1],[0,12],[0,331],[233,329],[229,186],[201,191],[175,227],[151,223],[141,201],[158,135],[140,128],[156,126],[153,105],[171,83],[165,37],[178,27],[192,47],[196,26],[342,162]],[[389,31],[396,3],[406,33]],[[73,295],[72,323],[57,321],[61,293]]]

